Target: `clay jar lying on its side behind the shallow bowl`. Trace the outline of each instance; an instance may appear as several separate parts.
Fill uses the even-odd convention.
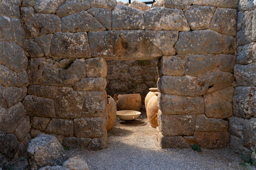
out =
[[[117,111],[139,111],[142,105],[140,94],[119,94],[117,96]]]

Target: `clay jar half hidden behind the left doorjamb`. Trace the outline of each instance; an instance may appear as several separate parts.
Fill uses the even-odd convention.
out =
[[[111,130],[117,119],[117,104],[111,96],[107,96],[107,130]]]

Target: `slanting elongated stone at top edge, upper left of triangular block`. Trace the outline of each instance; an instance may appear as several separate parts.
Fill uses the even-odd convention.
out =
[[[88,0],[68,0],[65,4],[60,6],[56,11],[57,16],[64,17],[73,13],[78,13],[80,11],[85,11],[90,8],[90,3]]]

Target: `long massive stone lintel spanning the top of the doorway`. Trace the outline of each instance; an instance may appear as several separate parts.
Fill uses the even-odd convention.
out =
[[[105,57],[107,60],[144,60],[174,55],[177,31],[105,31],[90,32],[90,49],[93,57]],[[98,42],[97,40],[102,41]],[[169,42],[169,44],[163,42]]]

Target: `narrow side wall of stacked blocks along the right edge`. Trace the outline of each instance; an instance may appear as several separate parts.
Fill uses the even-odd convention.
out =
[[[256,145],[256,4],[240,0],[238,49],[235,64],[234,116],[230,118],[230,146],[250,152]]]

